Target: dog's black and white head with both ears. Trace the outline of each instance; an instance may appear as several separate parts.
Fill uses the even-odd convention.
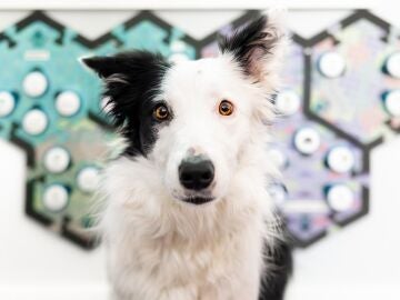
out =
[[[220,54],[170,63],[132,51],[83,62],[104,80],[126,156],[144,157],[172,198],[223,198],[232,174],[272,114],[284,34],[270,17],[222,38]]]

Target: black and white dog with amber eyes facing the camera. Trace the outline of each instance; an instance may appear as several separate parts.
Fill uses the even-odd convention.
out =
[[[221,39],[212,59],[83,60],[104,80],[126,146],[102,183],[113,299],[283,298],[291,258],[266,153],[286,44],[268,14]]]

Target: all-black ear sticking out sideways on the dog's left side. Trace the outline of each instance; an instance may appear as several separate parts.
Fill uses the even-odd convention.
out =
[[[140,104],[160,88],[170,67],[160,54],[147,51],[123,52],[112,57],[82,59],[104,82],[103,96],[109,100],[110,114],[116,126],[129,122],[138,114]]]

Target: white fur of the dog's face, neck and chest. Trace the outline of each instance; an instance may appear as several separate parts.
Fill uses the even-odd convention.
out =
[[[269,63],[276,62],[270,58]],[[119,158],[104,170],[102,218],[108,267],[118,300],[257,300],[262,247],[278,234],[266,190],[270,93],[277,70],[259,84],[229,54],[181,62],[160,99],[173,110],[147,158]],[[218,113],[221,100],[234,106]],[[178,166],[188,152],[216,167],[214,201],[180,201]],[[276,227],[273,227],[276,228]]]

